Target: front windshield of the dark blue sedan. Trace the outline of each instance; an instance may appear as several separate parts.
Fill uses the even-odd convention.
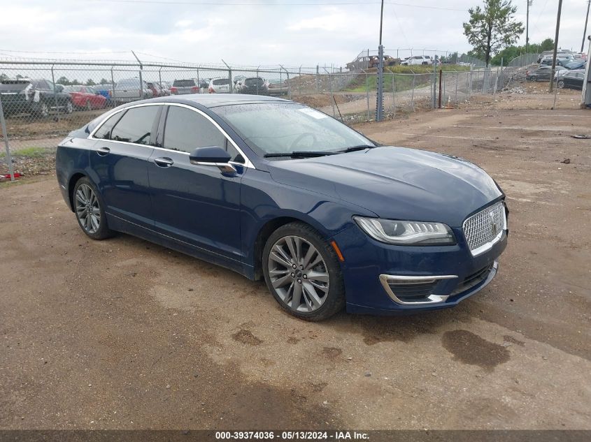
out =
[[[352,128],[298,103],[249,103],[212,110],[259,156],[375,147]]]

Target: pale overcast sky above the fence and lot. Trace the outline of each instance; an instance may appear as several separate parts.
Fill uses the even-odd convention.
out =
[[[517,18],[524,23],[526,1],[514,2]],[[462,22],[468,20],[468,8],[479,4],[476,0],[385,3],[383,44],[387,50],[470,49]],[[534,0],[529,14],[530,42],[554,38],[557,3]],[[561,47],[581,49],[586,8],[586,0],[564,0]],[[340,66],[364,48],[377,47],[380,3],[0,0],[0,11],[0,57],[131,59],[127,51],[135,50],[140,58],[152,61],[220,64],[225,59],[229,64],[248,66]],[[525,43],[525,33],[520,43]]]

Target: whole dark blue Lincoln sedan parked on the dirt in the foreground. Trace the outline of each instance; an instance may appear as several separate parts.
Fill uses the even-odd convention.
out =
[[[129,233],[264,278],[311,321],[453,307],[506,246],[504,193],[476,165],[280,98],[122,105],[70,133],[56,163],[92,239]]]

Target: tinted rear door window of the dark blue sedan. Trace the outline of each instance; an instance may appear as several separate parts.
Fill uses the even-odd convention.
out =
[[[152,126],[160,106],[132,108],[118,121],[111,131],[111,140],[150,145]]]

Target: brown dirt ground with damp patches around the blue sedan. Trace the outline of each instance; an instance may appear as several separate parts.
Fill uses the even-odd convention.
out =
[[[499,274],[439,313],[299,321],[261,282],[87,239],[54,178],[0,184],[0,428],[591,429],[590,113],[498,103],[359,126],[507,194]]]

